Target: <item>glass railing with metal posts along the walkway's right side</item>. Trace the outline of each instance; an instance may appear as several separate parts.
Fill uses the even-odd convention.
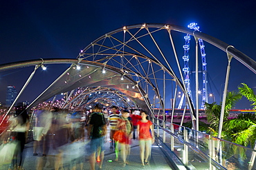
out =
[[[187,169],[255,169],[256,150],[154,118],[155,133]]]

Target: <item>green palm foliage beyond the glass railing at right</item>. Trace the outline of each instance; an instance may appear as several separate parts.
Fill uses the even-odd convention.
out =
[[[228,120],[230,109],[235,106],[242,96],[245,96],[252,102],[253,109],[256,109],[256,95],[253,89],[245,83],[241,83],[238,87],[239,92],[228,92],[226,96],[225,110],[223,116],[223,131],[221,137],[230,142],[245,147],[253,147],[256,140],[256,115],[252,113],[239,114],[237,118]],[[208,133],[217,136],[219,130],[219,118],[221,116],[221,105],[216,103],[205,103],[205,114],[207,115],[210,127]]]

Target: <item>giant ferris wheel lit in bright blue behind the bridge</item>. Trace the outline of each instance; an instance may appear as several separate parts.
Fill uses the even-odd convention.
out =
[[[197,23],[190,23],[190,25],[188,25],[188,28],[190,29],[194,29],[196,31],[199,32],[199,26],[197,25]],[[184,67],[183,67],[183,72],[184,72],[184,83],[185,83],[185,87],[187,89],[188,92],[188,96],[190,96],[191,100],[192,100],[192,91],[190,89],[190,67],[189,67],[189,61],[190,61],[190,34],[187,34],[186,36],[184,36],[185,39],[185,45],[183,45],[183,49],[184,49],[184,56],[183,56],[183,61],[184,61]],[[198,39],[199,41],[199,46],[200,46],[200,50],[201,50],[201,59],[202,59],[202,74],[203,74],[203,78],[202,78],[202,91],[198,91],[197,93],[201,93],[202,94],[202,101],[201,101],[201,109],[204,109],[205,107],[205,102],[208,102],[208,96],[207,96],[207,70],[206,70],[206,54],[205,54],[205,49],[204,49],[204,45],[203,45],[203,40],[202,39]],[[181,97],[181,101],[179,103],[179,107],[178,109],[181,109],[181,106],[183,104],[183,99],[184,99],[184,94]]]

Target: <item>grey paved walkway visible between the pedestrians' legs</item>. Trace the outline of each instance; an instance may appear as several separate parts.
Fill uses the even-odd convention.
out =
[[[107,136],[107,138],[109,138]],[[84,142],[78,141],[73,142],[71,145],[67,145],[64,148],[63,154],[63,169],[69,170],[72,169],[90,169],[89,167],[89,153],[88,145],[89,140],[85,140]],[[115,153],[109,149],[109,142],[105,143],[105,156],[102,169],[142,169],[140,163],[140,148],[138,146],[138,140],[132,140],[131,143],[131,154],[129,156],[129,164],[126,167],[122,167],[122,161],[119,158],[118,162],[115,160]],[[26,170],[35,170],[37,169],[37,164],[42,162],[44,164],[45,170],[54,169],[54,162],[56,159],[56,153],[51,149],[48,153],[48,156],[42,157],[42,154],[39,153],[38,156],[33,156],[33,142],[29,142],[25,148],[25,160],[24,160],[24,169]],[[75,160],[75,161],[74,161]],[[81,162],[81,164],[79,164]],[[169,166],[169,162],[165,155],[161,151],[161,149],[155,144],[152,145],[152,156],[149,162],[149,165],[145,166],[145,169],[171,169]],[[98,169],[98,166],[96,166]],[[8,164],[4,164],[0,167],[0,170],[8,170]]]

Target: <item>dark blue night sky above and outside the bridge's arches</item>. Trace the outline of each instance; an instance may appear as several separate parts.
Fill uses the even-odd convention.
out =
[[[0,1],[0,64],[40,58],[76,58],[91,41],[125,25],[172,23],[186,27],[191,22],[198,23],[201,32],[233,45],[256,60],[255,8],[256,1],[237,0]],[[207,49],[206,46],[206,54],[210,54]],[[218,56],[214,57],[214,60],[221,61]],[[218,68],[210,65],[208,63],[211,75]],[[241,82],[256,90],[253,72],[237,61],[231,66],[230,91],[237,89]],[[48,87],[46,81],[54,81],[67,65],[49,65],[48,69],[51,67],[59,68],[59,71],[51,74],[38,72],[40,78],[31,81],[20,100],[31,102]],[[33,67],[0,72],[0,101],[5,103],[7,85],[15,85],[19,91],[31,72]],[[246,72],[246,76],[241,72]],[[214,83],[219,81],[218,74],[212,74],[211,81],[214,91]],[[215,91],[219,92],[218,88]],[[219,98],[218,94],[216,98]],[[249,108],[248,102],[243,101],[237,107]]]

